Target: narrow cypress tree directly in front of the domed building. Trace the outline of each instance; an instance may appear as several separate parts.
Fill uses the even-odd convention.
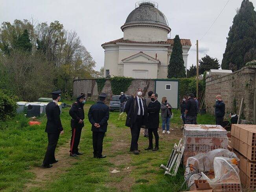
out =
[[[186,77],[184,60],[182,56],[182,45],[179,35],[176,35],[173,43],[173,50],[168,65],[168,78],[183,78]]]

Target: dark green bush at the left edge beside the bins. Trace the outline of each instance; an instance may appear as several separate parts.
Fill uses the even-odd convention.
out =
[[[17,97],[6,90],[0,90],[0,121],[7,120],[15,116]]]

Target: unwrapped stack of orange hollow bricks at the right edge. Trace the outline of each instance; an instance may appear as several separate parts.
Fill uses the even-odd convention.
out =
[[[241,183],[256,190],[256,125],[233,124],[230,148],[240,159]]]

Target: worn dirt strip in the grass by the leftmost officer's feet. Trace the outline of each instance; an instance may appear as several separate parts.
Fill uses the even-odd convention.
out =
[[[59,162],[54,163],[51,168],[41,168],[35,167],[31,170],[33,174],[35,174],[35,179],[30,180],[25,185],[26,191],[29,191],[32,187],[44,187],[47,181],[50,181],[52,178],[57,178],[61,173],[65,172],[65,168],[72,166],[72,163],[76,162],[77,159],[71,158],[69,156],[68,151],[70,150],[69,142],[62,145],[57,149],[57,153],[55,153],[56,159]]]

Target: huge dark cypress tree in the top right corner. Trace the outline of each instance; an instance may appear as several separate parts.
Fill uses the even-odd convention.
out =
[[[248,60],[256,59],[256,12],[252,2],[243,0],[228,33],[222,69],[241,69]],[[254,53],[254,55],[250,55]],[[250,57],[248,58],[248,55]],[[236,65],[236,67],[234,67]]]

